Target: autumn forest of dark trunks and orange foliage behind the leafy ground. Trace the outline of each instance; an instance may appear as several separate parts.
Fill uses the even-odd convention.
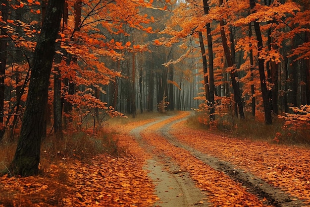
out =
[[[37,175],[51,137],[150,112],[310,143],[309,0],[0,2],[0,143],[16,149],[1,174]]]

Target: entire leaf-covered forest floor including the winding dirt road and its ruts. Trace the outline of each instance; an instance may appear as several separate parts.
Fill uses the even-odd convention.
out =
[[[0,207],[310,207],[309,149],[192,129],[188,116],[111,125],[118,157],[1,177]]]

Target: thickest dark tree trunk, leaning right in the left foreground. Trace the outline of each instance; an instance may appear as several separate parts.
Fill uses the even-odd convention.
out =
[[[33,56],[20,137],[15,156],[8,168],[14,175],[25,177],[38,174],[55,40],[60,28],[64,1],[49,0],[48,3],[47,13]]]

